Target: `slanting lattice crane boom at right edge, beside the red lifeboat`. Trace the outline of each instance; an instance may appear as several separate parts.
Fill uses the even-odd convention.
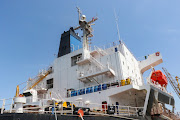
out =
[[[177,82],[173,79],[173,77],[171,76],[171,74],[167,71],[166,68],[162,68],[164,70],[164,72],[166,73],[166,77],[168,79],[168,81],[170,82],[172,88],[174,89],[174,91],[176,92],[177,96],[180,99],[180,89],[178,87]]]

